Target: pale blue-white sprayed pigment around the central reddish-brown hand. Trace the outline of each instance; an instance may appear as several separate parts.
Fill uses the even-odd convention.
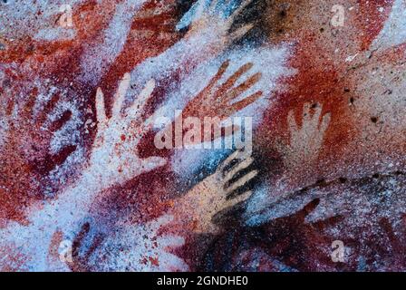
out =
[[[263,92],[263,96],[256,102],[247,106],[247,108],[237,111],[232,117],[252,117],[254,129],[262,121],[263,112],[269,105],[272,104],[272,94],[278,90],[277,81],[282,76],[292,75],[293,70],[285,66],[285,62],[289,56],[288,46],[280,46],[275,48],[256,48],[250,49],[246,47],[241,50],[225,53],[209,63],[204,63],[185,79],[182,80],[179,89],[169,93],[168,101],[164,108],[160,111],[165,117],[173,118],[175,110],[183,109],[198,92],[201,92],[212,77],[218,72],[221,63],[230,60],[227,72],[223,75],[219,83],[227,81],[227,79],[236,73],[238,68],[245,63],[253,63],[253,68],[245,73],[235,84],[244,82],[247,78],[255,73],[262,73],[262,78],[253,85],[247,92],[243,93],[237,100],[246,98],[250,94],[258,91]],[[228,137],[228,139],[231,137]],[[173,170],[179,175],[187,175],[194,173],[202,166],[203,160],[211,160],[221,150],[176,150],[175,155],[171,160]],[[223,150],[224,151],[224,150]]]

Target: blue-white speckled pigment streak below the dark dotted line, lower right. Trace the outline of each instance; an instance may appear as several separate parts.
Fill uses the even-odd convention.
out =
[[[244,218],[247,225],[258,226],[276,218],[293,215],[315,198],[319,198],[319,204],[306,216],[305,222],[314,223],[342,216],[346,217],[343,228],[350,228],[378,224],[381,218],[388,218],[391,222],[401,220],[406,208],[405,192],[402,190],[404,177],[384,177],[361,187],[359,184],[356,180],[348,184],[337,183],[329,188],[292,192],[272,200],[267,190],[272,189],[272,186],[267,186],[267,189],[257,189],[249,201]]]

